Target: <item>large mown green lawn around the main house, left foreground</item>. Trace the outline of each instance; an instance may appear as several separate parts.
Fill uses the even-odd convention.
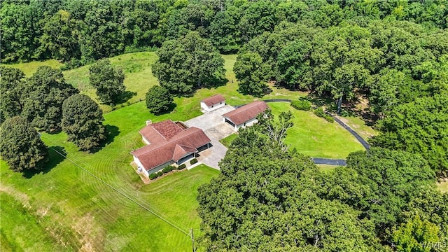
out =
[[[218,171],[202,165],[144,185],[130,166],[132,156],[129,152],[142,145],[138,130],[144,126],[144,121],[150,118],[158,121],[168,117],[173,120],[190,118],[184,113],[154,117],[144,108],[143,102],[105,114],[104,124],[109,125],[109,130],[117,135],[111,144],[94,154],[78,152],[73,144],[66,142],[64,133],[42,134],[42,138],[48,146],[63,147],[69,153],[70,160],[148,209],[153,209],[183,230],[195,228],[195,234],[199,235],[200,218],[196,214],[198,204],[195,200],[197,187],[216,176]],[[36,229],[34,223],[40,223],[46,231],[43,237],[51,238],[42,239],[48,248],[67,244],[66,249],[69,251],[77,251],[82,246],[93,247],[96,251],[190,249],[190,238],[187,235],[94,179],[70,160],[58,158],[54,151],[51,154],[52,164],[49,166],[52,168],[29,179],[11,172],[6,163],[1,162],[1,190],[15,201],[28,206],[25,213],[15,211],[15,208],[2,208],[2,218],[5,213],[8,216],[25,214],[26,218],[33,221],[19,223],[24,229],[30,230]],[[45,217],[45,222],[41,222],[40,216]],[[15,228],[15,225],[2,222],[2,240],[23,246],[24,249],[29,248],[27,244],[21,243],[27,233],[22,234],[22,237],[10,237],[18,235]]]

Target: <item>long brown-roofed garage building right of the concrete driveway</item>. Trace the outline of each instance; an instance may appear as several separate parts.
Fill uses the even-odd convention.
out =
[[[254,123],[258,123],[257,116],[260,113],[264,113],[266,109],[269,109],[265,102],[252,102],[244,106],[230,111],[223,115],[225,123],[229,123],[235,130],[240,127],[251,126]]]

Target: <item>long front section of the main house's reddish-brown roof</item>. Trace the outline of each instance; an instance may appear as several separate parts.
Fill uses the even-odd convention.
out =
[[[151,139],[148,139],[151,141]],[[209,137],[197,127],[190,127],[176,134],[162,144],[150,144],[135,151],[132,155],[139,158],[141,165],[149,171],[171,160],[179,161],[188,153],[197,152],[197,148],[211,142]],[[151,143],[153,143],[151,141]]]

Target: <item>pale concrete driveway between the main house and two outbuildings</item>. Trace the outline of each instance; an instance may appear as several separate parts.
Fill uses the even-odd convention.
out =
[[[221,161],[227,148],[219,142],[219,140],[230,136],[235,133],[232,126],[223,122],[223,114],[228,113],[235,108],[229,105],[223,106],[216,111],[211,111],[209,113],[204,113],[202,116],[197,116],[190,119],[185,123],[188,127],[198,127],[207,134],[207,137],[211,139],[211,148],[200,153],[200,157],[197,158],[198,161],[202,162],[204,165],[219,169],[218,162]]]

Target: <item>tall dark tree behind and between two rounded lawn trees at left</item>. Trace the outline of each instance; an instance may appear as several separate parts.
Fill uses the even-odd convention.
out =
[[[60,130],[62,103],[76,93],[78,90],[65,82],[61,70],[39,66],[27,81],[22,117],[34,127],[56,132]]]

